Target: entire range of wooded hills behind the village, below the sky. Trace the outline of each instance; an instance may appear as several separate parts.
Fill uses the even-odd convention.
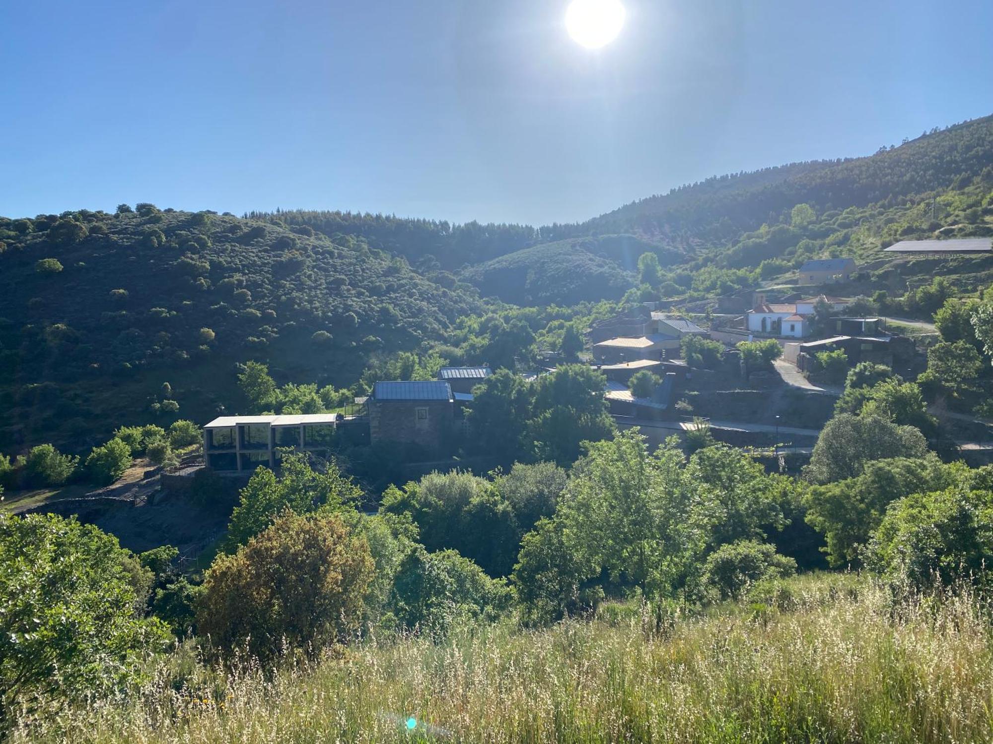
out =
[[[867,158],[709,179],[582,224],[282,210],[238,218],[151,204],[0,217],[0,406],[9,412],[0,447],[88,445],[107,434],[93,432],[94,419],[123,423],[163,405],[196,419],[243,409],[230,390],[235,365],[249,359],[268,362],[281,383],[349,386],[374,355],[453,343],[459,317],[494,310],[487,298],[712,301],[795,282],[809,258],[852,256],[864,271],[848,290],[886,290],[891,309],[915,310],[898,296],[936,267],[882,248],[993,234],[991,192],[987,117]],[[642,270],[646,253],[657,262]],[[993,265],[956,258],[941,273],[969,294],[993,280]]]

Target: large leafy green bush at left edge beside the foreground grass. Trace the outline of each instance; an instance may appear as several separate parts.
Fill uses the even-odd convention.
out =
[[[134,614],[129,557],[74,518],[0,514],[0,726],[15,711],[91,705],[163,649],[165,627]]]

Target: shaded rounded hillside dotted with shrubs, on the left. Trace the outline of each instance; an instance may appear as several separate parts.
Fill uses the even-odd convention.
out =
[[[480,307],[469,286],[361,239],[233,215],[140,204],[6,218],[0,241],[5,449],[57,430],[98,438],[94,420],[163,400],[212,416],[237,403],[234,364],[252,358],[284,379],[351,383],[370,355],[437,340]]]

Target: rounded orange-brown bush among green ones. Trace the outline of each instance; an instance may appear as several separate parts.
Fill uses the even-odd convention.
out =
[[[314,653],[346,638],[372,578],[364,539],[336,515],[284,512],[204,579],[197,625],[216,647],[247,646],[263,659],[291,648]]]

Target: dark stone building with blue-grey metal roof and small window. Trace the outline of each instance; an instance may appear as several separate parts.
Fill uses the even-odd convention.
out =
[[[447,456],[462,426],[446,380],[377,382],[365,405],[371,443],[399,445],[406,459]]]

